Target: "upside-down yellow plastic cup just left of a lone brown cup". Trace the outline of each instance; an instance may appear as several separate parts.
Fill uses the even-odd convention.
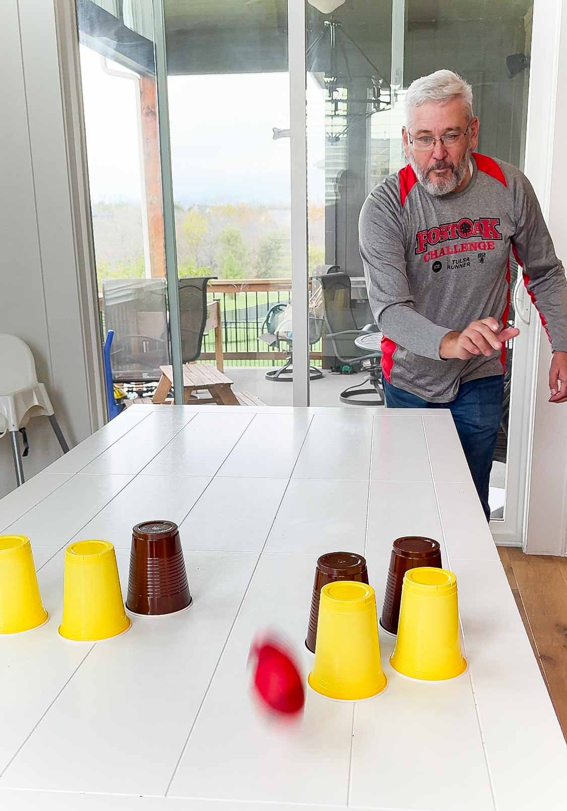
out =
[[[59,633],[74,642],[97,642],[130,628],[114,547],[109,541],[79,541],[65,550],[63,621]]]

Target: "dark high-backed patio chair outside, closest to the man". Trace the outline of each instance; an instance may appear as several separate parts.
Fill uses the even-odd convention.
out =
[[[339,400],[353,405],[384,405],[382,352],[368,352],[355,345],[357,337],[376,328],[369,303],[353,302],[351,279],[347,273],[327,273],[313,279],[313,284],[322,286],[325,336],[330,340],[335,356],[341,363],[360,367],[369,373],[361,384],[345,388]]]

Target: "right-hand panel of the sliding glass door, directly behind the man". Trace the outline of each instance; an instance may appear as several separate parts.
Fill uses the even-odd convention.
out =
[[[312,294],[309,321],[323,314],[324,378],[311,381],[312,405],[381,399],[375,368],[379,343],[377,358],[370,351],[363,358],[355,343],[357,333],[373,324],[357,225],[369,192],[405,164],[401,131],[407,87],[440,68],[463,75],[480,118],[478,151],[522,168],[532,11],[531,0],[305,3],[308,265],[311,285],[320,290],[318,298]],[[516,285],[513,256],[510,265],[509,324],[515,322],[522,334],[506,349],[505,410],[490,489],[492,528],[504,542],[518,537],[520,529],[521,412],[529,362],[525,322],[530,318],[521,273]],[[340,331],[343,338],[334,337]]]

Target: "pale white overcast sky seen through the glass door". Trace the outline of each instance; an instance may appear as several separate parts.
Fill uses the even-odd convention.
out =
[[[108,62],[109,67],[126,72]],[[131,79],[106,75],[81,45],[92,200],[140,200],[139,128]],[[190,203],[290,204],[289,77],[283,73],[168,79],[174,198]],[[324,202],[322,91],[308,85],[309,199]]]

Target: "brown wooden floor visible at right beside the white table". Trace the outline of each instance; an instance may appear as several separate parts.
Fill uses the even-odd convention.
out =
[[[567,558],[498,552],[567,740]]]

